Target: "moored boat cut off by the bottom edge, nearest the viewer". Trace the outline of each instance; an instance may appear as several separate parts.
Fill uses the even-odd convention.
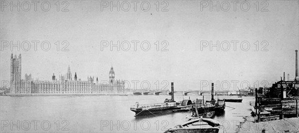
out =
[[[174,126],[164,133],[219,133],[220,126],[213,119],[197,118]]]

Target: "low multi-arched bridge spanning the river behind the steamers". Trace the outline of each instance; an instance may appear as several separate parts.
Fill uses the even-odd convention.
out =
[[[215,91],[215,95],[228,95],[229,91]],[[198,91],[198,90],[190,90],[190,91],[174,91],[175,95],[202,95],[202,94],[211,94],[210,90],[207,91]],[[134,95],[171,95],[171,91],[143,91],[143,90],[135,90],[133,91]]]

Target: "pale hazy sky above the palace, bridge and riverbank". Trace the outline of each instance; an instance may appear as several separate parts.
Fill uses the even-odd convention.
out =
[[[210,80],[215,83],[228,81],[231,88],[232,80],[238,80],[239,87],[242,81],[249,81],[253,86],[254,82],[261,84],[263,80],[271,86],[280,80],[284,71],[286,76],[290,73],[290,78],[295,78],[295,50],[299,49],[298,0],[267,0],[265,3],[250,0],[248,11],[243,11],[247,8],[246,3],[243,3],[243,8],[240,7],[244,1],[236,3],[236,11],[232,1],[227,2],[230,4],[228,11],[224,11],[227,3],[223,1],[219,1],[219,11],[216,7],[210,11],[210,1],[200,0],[164,3],[150,0],[148,11],[146,2],[141,8],[143,1],[136,3],[136,11],[132,1],[129,1],[129,11],[124,11],[128,7],[124,1],[120,1],[120,6],[123,6],[120,11],[117,11],[117,7],[111,11],[110,1],[107,1],[108,7],[104,8],[101,5],[107,4],[106,1],[102,1],[102,4],[96,0],[71,0],[63,4],[60,1],[59,11],[55,0],[49,1],[49,11],[42,10],[42,1],[37,3],[36,11],[34,3],[29,2],[29,11],[24,11],[27,3],[21,5],[23,8],[20,11],[16,7],[11,11],[11,7],[6,7],[7,3],[1,1],[1,46],[4,41],[12,41],[13,44],[17,44],[17,41],[40,43],[36,51],[32,42],[29,51],[21,48],[17,51],[16,47],[11,51],[10,46],[1,47],[0,80],[10,78],[11,53],[22,55],[22,78],[25,73],[31,73],[33,79],[40,80],[51,80],[53,73],[57,78],[59,74],[66,74],[68,65],[73,76],[77,72],[82,80],[87,80],[87,76],[108,80],[113,65],[117,79],[130,82],[148,80],[151,89],[156,88],[156,80],[159,81],[159,88],[165,85],[161,82],[166,80],[169,82],[168,89],[170,82],[174,82],[175,89],[188,90],[199,89],[200,82]],[[117,3],[116,0],[113,2]],[[212,2],[216,4],[217,1]],[[209,5],[201,8],[201,3]],[[43,9],[47,8],[46,4],[43,5]],[[61,11],[66,5],[65,10],[69,11]],[[161,11],[163,7],[164,11]],[[50,42],[49,51],[41,49],[43,41]],[[57,41],[60,42],[59,51],[54,44]],[[69,42],[69,51],[61,51],[65,46],[61,44],[62,41]],[[110,47],[105,47],[101,50],[101,41],[112,41],[115,45],[117,41],[129,41],[131,49],[124,51],[120,48],[117,51],[114,47],[111,51]],[[136,51],[132,41],[139,41]],[[149,51],[142,50],[143,41],[150,43]],[[157,45],[154,45],[157,41],[158,51]],[[166,44],[161,45],[162,41],[168,42],[165,48],[168,51],[161,51]],[[227,48],[224,43],[223,47],[218,47],[219,51],[217,47],[212,47],[211,51],[209,46],[201,50],[203,41],[212,41],[214,45],[217,41],[228,41],[230,48],[228,51],[222,50]],[[239,41],[236,51],[232,41]],[[250,43],[248,51],[241,49],[243,41]],[[147,45],[144,46],[147,48]],[[261,51],[264,46],[264,50],[268,51]],[[24,48],[27,48],[27,44]],[[127,44],[124,48],[127,48]],[[140,82],[137,85],[140,86]]]

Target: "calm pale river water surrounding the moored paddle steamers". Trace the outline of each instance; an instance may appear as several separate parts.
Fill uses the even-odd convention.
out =
[[[178,96],[183,99],[202,99],[202,96]],[[167,95],[143,96],[0,96],[0,132],[59,132],[59,133],[162,133],[172,126],[185,122],[188,112],[170,113],[156,117],[134,117],[130,107],[140,104],[162,103]],[[237,98],[236,96],[219,96]],[[243,117],[249,116],[250,101],[254,97],[242,97],[242,103],[227,102],[225,113],[213,117],[223,125],[226,133],[234,133]],[[210,100],[210,95],[204,96]],[[217,99],[217,96],[215,96]],[[232,108],[229,108],[229,107]],[[233,109],[235,108],[235,109]],[[223,130],[219,133],[223,133]],[[224,132],[225,133],[225,132]]]

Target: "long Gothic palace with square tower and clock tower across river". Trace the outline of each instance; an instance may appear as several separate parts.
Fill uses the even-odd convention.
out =
[[[115,72],[111,67],[109,72],[109,81],[99,83],[98,78],[94,82],[94,77],[88,77],[87,81],[78,80],[75,72],[74,80],[70,67],[68,67],[66,76],[60,75],[59,80],[56,79],[54,73],[52,80],[40,81],[32,80],[31,74],[25,74],[25,78],[21,79],[21,54],[13,58],[10,57],[10,93],[12,94],[30,94],[30,93],[48,93],[48,94],[114,94],[124,93],[125,82],[115,80]],[[109,83],[108,83],[109,82]]]

